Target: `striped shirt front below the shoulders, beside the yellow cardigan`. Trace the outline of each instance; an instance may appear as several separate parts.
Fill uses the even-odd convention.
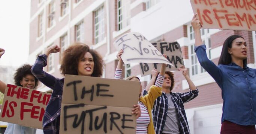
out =
[[[148,109],[142,102],[138,102],[138,104],[141,108],[141,116],[137,119],[136,134],[147,134],[148,124],[150,123]]]

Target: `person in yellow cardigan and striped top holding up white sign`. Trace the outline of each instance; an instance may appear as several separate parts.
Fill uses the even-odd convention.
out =
[[[118,64],[115,70],[115,79],[121,79],[121,75],[122,75],[121,68],[123,65],[123,60],[121,59],[121,55],[123,54],[123,52],[124,52],[123,50],[120,50],[117,54]],[[164,55],[164,57],[166,57],[166,55]],[[148,95],[141,96],[141,92],[142,92],[142,86],[141,86],[140,93],[139,93],[139,102],[138,102],[141,108],[141,117],[137,119],[136,134],[155,134],[156,133],[154,131],[153,117],[152,117],[151,111],[153,109],[153,105],[156,98],[162,94],[161,87],[163,83],[165,69],[166,69],[166,64],[162,64],[160,74],[158,75],[158,79],[156,80],[157,82],[155,83],[154,86],[150,87]],[[153,72],[154,71],[156,70],[153,70]],[[130,76],[126,80],[141,82],[137,76]]]

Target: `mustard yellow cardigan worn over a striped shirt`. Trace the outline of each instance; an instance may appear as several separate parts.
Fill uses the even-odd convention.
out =
[[[148,94],[144,97],[140,97],[139,101],[142,102],[148,109],[148,114],[150,117],[150,123],[148,124],[148,134],[156,134],[154,130],[154,123],[152,119],[152,109],[154,106],[154,102],[157,99],[157,97],[162,95],[162,87],[157,87],[155,85],[150,87],[150,90],[148,91]]]

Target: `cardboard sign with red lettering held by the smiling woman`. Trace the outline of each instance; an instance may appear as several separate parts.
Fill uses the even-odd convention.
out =
[[[43,129],[42,120],[51,94],[7,84],[0,121]]]

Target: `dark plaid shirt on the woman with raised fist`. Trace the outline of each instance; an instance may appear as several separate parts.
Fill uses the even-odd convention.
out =
[[[60,107],[64,78],[58,79],[43,71],[46,64],[47,56],[45,54],[39,55],[31,68],[31,72],[40,82],[53,90],[43,116],[43,133],[58,134],[60,131]]]

